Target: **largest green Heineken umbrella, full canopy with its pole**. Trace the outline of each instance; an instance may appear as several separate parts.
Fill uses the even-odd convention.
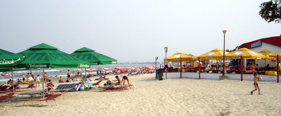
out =
[[[91,66],[91,63],[75,58],[73,55],[64,53],[45,43],[30,47],[28,50],[17,54],[27,56],[27,58],[13,68],[43,68],[42,77],[44,68],[90,68]],[[44,81],[42,86],[44,91]]]

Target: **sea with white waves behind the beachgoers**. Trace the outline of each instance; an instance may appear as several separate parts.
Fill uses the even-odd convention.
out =
[[[143,66],[155,66],[155,64],[107,64],[107,65],[91,65],[91,68],[86,68],[88,69],[101,69],[101,68],[108,68],[107,72],[111,72],[114,68],[122,68],[122,67],[143,67]],[[61,72],[60,72],[61,70]],[[85,68],[44,68],[44,72],[47,72],[48,76],[62,76],[62,77],[67,77],[67,72],[68,70],[70,71],[71,75],[73,70],[82,70],[84,71],[85,74]],[[38,74],[40,77],[43,74],[43,69],[38,69],[38,70],[31,70],[34,74],[34,76],[37,76]],[[6,73],[6,72],[0,72],[1,73]],[[7,72],[11,73],[12,72]],[[14,82],[17,82],[18,78],[23,78],[23,75],[27,75],[27,73],[30,73],[30,70],[22,70],[22,71],[13,71],[13,79]],[[91,74],[96,73],[96,72],[90,72]],[[12,79],[12,76],[0,76],[0,82],[7,82],[9,79]]]

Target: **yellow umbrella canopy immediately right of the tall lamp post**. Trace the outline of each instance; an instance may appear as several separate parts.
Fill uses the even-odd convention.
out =
[[[242,55],[243,58],[246,59],[264,59],[265,56],[263,54],[254,52],[252,50],[249,50],[247,48],[241,48],[236,51],[233,51],[231,53],[228,53],[225,55],[225,58],[228,59],[240,59],[240,56]]]

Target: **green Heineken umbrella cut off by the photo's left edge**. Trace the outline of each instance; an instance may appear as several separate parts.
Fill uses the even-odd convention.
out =
[[[24,60],[24,56],[0,49],[0,67],[17,65]]]

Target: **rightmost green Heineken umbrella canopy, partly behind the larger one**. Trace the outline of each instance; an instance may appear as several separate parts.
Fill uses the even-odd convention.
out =
[[[91,65],[117,64],[117,60],[110,58],[106,55],[97,53],[94,50],[86,47],[74,51],[74,53],[71,53],[71,55],[81,60],[90,62]]]

